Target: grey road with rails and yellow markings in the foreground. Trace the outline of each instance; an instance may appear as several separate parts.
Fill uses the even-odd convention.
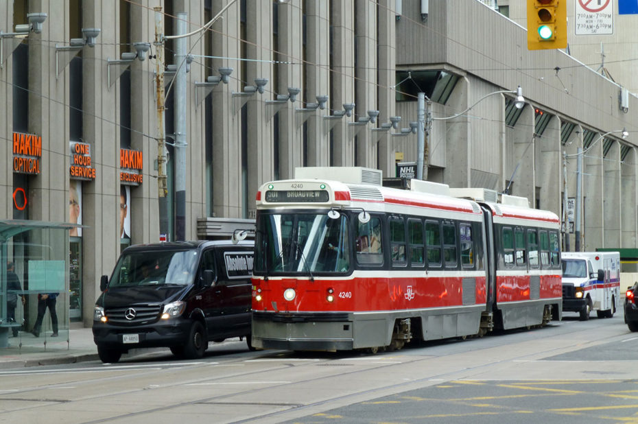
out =
[[[595,316],[595,315],[594,315]],[[401,351],[152,351],[118,364],[0,372],[21,423],[583,423],[638,421],[638,333],[622,314]]]

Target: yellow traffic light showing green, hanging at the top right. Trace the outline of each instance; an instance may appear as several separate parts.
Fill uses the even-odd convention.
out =
[[[528,2],[528,50],[567,47],[567,0]]]

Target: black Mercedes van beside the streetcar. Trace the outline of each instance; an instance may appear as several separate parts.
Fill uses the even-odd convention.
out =
[[[209,341],[245,337],[250,345],[253,242],[162,242],[121,253],[103,275],[93,341],[102,362],[129,349],[168,347],[189,359]]]

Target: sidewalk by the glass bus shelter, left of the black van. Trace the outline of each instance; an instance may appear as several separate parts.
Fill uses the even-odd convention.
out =
[[[62,331],[60,331],[62,335]],[[30,337],[30,335],[29,335]],[[44,342],[47,342],[46,348]],[[25,340],[25,343],[27,340]],[[32,342],[32,340],[29,340]],[[0,369],[38,365],[73,364],[98,360],[97,347],[90,328],[70,329],[69,341],[43,338],[38,346],[19,347],[19,338],[10,338],[9,347],[0,349]]]

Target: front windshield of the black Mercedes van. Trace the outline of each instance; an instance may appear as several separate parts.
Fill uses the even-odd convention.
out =
[[[197,250],[124,252],[108,286],[188,285],[193,281],[197,263]]]

